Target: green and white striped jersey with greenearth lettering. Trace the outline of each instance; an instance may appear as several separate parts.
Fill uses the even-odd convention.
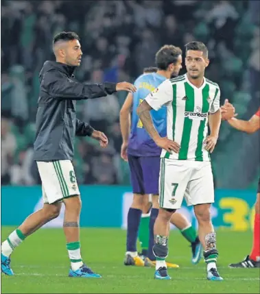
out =
[[[187,74],[180,75],[166,79],[145,100],[154,110],[167,107],[167,138],[180,145],[178,154],[163,149],[161,157],[210,161],[204,140],[209,112],[220,108],[220,87],[216,83],[204,77],[202,86],[197,88],[189,82]]]

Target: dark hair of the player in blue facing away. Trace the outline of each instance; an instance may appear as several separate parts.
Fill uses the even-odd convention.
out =
[[[166,71],[169,64],[176,63],[178,56],[182,55],[180,47],[174,45],[164,45],[156,53],[155,63],[158,69]]]

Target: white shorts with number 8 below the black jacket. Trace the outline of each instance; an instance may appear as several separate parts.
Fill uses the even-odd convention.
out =
[[[71,160],[37,161],[43,187],[43,201],[52,204],[66,197],[80,195]]]

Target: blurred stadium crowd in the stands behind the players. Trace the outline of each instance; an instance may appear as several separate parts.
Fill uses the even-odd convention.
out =
[[[259,107],[259,1],[1,1],[1,184],[40,184],[32,160],[38,73],[54,60],[51,41],[77,32],[84,53],[81,82],[134,81],[165,44],[184,48],[200,40],[209,48],[206,77],[220,84],[240,119]],[[185,73],[185,66],[180,74]],[[80,101],[78,117],[102,130],[101,149],[90,138],[75,142],[79,184],[129,184],[120,158],[119,111],[126,93]],[[217,188],[255,188],[259,132],[237,132],[222,123],[212,156]]]

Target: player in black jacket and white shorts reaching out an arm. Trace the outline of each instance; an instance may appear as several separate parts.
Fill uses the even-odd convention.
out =
[[[82,50],[80,39],[73,32],[62,32],[54,37],[56,62],[47,61],[40,71],[40,97],[36,114],[36,138],[34,160],[42,180],[44,206],[29,215],[12,232],[1,246],[1,271],[14,275],[10,267],[10,255],[30,234],[60,214],[65,205],[64,234],[71,261],[70,277],[101,278],[87,267],[80,254],[81,199],[73,169],[73,142],[75,136],[91,136],[106,147],[105,134],[76,118],[77,100],[104,97],[119,90],[135,92],[128,83],[82,84],[73,71],[80,66]]]

